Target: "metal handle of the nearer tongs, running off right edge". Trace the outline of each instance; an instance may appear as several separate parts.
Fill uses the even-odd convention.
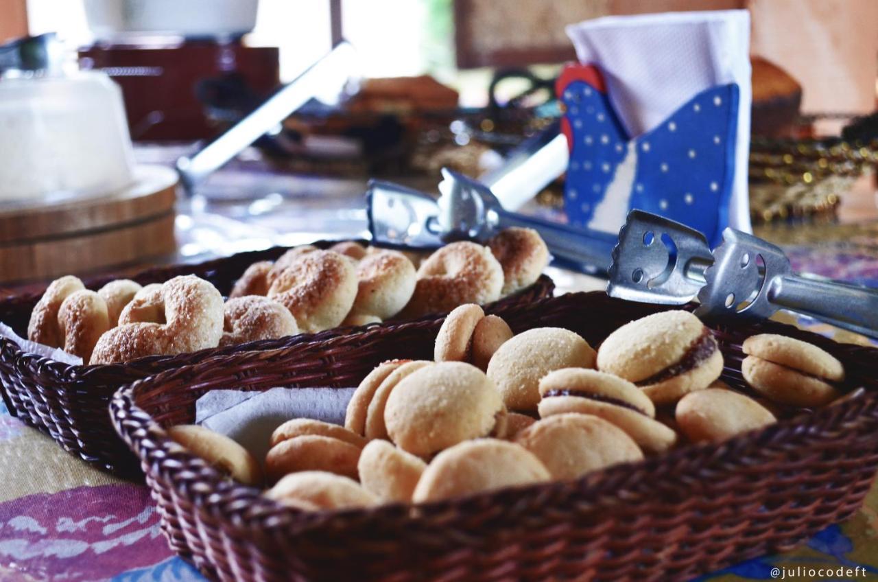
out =
[[[828,324],[878,338],[878,290],[797,275],[775,277],[768,301]]]

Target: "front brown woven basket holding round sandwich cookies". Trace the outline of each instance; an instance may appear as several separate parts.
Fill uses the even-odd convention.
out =
[[[504,316],[515,331],[565,327],[597,346],[620,324],[660,309],[572,294]],[[140,457],[171,547],[224,580],[685,579],[846,519],[878,466],[878,350],[771,322],[716,328],[731,386],[744,388],[744,338],[779,332],[836,355],[865,396],[574,482],[417,508],[300,513],[172,447],[162,429],[192,422],[196,399],[211,389],[354,386],[379,361],[431,358],[438,327],[418,322],[283,353],[236,353],[120,389],[113,422]]]

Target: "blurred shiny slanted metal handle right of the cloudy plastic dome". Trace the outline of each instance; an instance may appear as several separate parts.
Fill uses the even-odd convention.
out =
[[[248,113],[226,133],[219,135],[191,157],[176,162],[180,181],[187,193],[203,179],[236,156],[241,149],[277,127],[309,99],[318,95],[337,95],[356,76],[356,51],[348,42],[340,42],[291,83],[284,85],[262,105]]]

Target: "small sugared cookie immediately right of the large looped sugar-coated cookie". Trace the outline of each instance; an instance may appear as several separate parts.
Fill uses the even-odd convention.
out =
[[[299,333],[299,326],[290,309],[268,297],[248,295],[229,299],[224,316],[220,347],[237,346],[256,339],[285,338]]]

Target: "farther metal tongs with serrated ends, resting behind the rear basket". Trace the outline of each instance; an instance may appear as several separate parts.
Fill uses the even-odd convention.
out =
[[[371,180],[366,213],[375,244],[434,249],[457,240],[485,243],[501,229],[536,229],[556,261],[582,273],[604,273],[613,238],[511,212],[485,184],[443,168],[438,200],[390,182]]]

